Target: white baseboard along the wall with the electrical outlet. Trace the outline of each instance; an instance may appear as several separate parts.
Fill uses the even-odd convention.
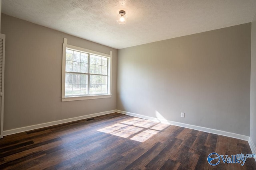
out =
[[[240,135],[240,134],[236,134],[236,133],[220,131],[220,130],[210,129],[210,128],[207,128],[207,127],[201,127],[201,126],[196,126],[196,125],[189,125],[189,124],[186,124],[186,123],[180,123],[180,122],[176,122],[176,121],[169,121],[169,120],[165,120],[165,119],[158,119],[156,117],[150,117],[150,116],[140,115],[140,114],[136,114],[136,113],[130,113],[130,112],[127,112],[127,111],[116,110],[116,112],[122,113],[122,114],[125,114],[125,115],[134,116],[134,117],[140,117],[142,119],[148,119],[148,120],[152,120],[152,121],[166,123],[166,124],[169,124],[169,125],[186,127],[186,128],[189,128],[189,129],[194,129],[194,130],[198,130],[198,131],[213,133],[213,134],[216,134],[216,135],[222,135],[222,136],[226,136],[226,137],[242,139],[244,141],[249,140],[248,136]]]

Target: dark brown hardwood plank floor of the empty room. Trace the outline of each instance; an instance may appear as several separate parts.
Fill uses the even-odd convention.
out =
[[[251,154],[247,141],[112,113],[0,139],[0,169],[256,169],[210,153]]]

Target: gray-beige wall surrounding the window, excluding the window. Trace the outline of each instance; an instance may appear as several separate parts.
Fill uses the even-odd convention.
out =
[[[116,109],[117,50],[2,14],[4,130]],[[112,98],[61,102],[62,43],[110,54]]]

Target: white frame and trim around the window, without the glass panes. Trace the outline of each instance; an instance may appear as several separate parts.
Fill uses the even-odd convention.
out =
[[[75,51],[81,51],[91,55],[97,55],[100,57],[108,57],[108,94],[93,94],[93,95],[84,95],[84,96],[65,96],[65,79],[66,79],[66,49],[71,49]],[[89,74],[89,73],[88,73]],[[109,54],[100,53],[98,51],[92,51],[89,49],[84,49],[81,47],[76,47],[73,45],[68,45],[68,39],[64,38],[63,49],[62,49],[62,87],[61,87],[61,101],[74,101],[74,100],[89,100],[89,99],[100,99],[100,98],[111,98],[112,97],[112,51]],[[89,88],[89,87],[88,87]]]

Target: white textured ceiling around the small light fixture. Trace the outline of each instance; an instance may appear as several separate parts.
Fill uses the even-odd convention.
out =
[[[255,12],[256,0],[2,0],[4,14],[115,49],[248,23]]]

